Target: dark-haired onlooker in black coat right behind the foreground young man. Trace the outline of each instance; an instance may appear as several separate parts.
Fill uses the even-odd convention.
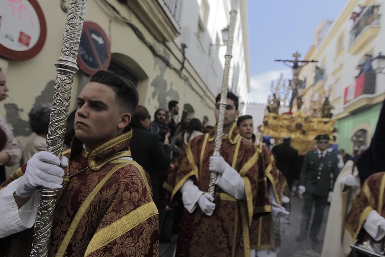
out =
[[[164,143],[159,142],[159,135],[151,134],[150,114],[146,107],[139,105],[132,115],[132,142],[130,144],[132,159],[149,174],[152,184],[153,200],[159,207],[159,189],[165,180],[166,170],[171,161],[169,135]]]

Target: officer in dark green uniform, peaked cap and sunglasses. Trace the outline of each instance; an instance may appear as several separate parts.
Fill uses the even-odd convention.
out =
[[[329,136],[318,135],[315,140],[317,140],[317,149],[306,154],[300,175],[298,191],[300,194],[304,194],[304,205],[300,234],[296,237],[296,240],[301,242],[306,239],[311,211],[313,205],[315,205],[313,222],[310,228],[310,239],[316,244],[318,243],[317,235],[320,232],[323,213],[331,189],[331,177],[335,181],[339,169],[337,156],[326,151],[328,140],[330,140]]]

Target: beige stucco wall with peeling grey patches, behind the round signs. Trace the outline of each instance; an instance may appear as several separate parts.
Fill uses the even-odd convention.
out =
[[[66,14],[60,8],[59,1],[38,2],[47,21],[47,40],[42,51],[25,61],[5,60],[0,57],[0,67],[5,70],[7,85],[10,88],[10,97],[0,104],[0,115],[7,120],[23,146],[30,134],[28,112],[35,103],[52,100],[56,75],[54,63],[59,57],[66,20]],[[147,42],[165,56],[170,65],[179,70],[182,53],[174,42],[158,42],[131,10],[116,0],[109,2],[139,28]],[[206,115],[209,118],[208,124],[214,125],[214,96],[188,60],[181,74],[171,69],[160,58],[154,57],[149,47],[139,40],[129,26],[105,11],[99,1],[87,2],[85,20],[93,21],[104,29],[109,37],[112,53],[127,56],[127,60],[133,62],[123,64],[134,67],[129,71],[139,79],[139,103],[146,106],[152,116],[157,108],[167,108],[168,101],[179,100],[180,117],[183,105],[189,103],[194,108],[194,115],[190,114],[189,117],[194,116],[202,120]],[[74,77],[70,111],[75,109],[79,83],[78,72]]]

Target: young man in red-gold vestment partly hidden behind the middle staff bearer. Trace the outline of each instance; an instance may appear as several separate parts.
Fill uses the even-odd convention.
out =
[[[254,217],[250,227],[250,248],[251,257],[275,257],[279,245],[276,244],[275,234],[280,231],[275,231],[275,225],[279,222],[281,215],[289,213],[283,208],[282,204],[289,203],[289,187],[285,176],[277,169],[274,156],[269,148],[262,142],[257,142],[253,134],[253,117],[244,115],[238,118],[237,126],[239,134],[245,139],[253,142],[259,151],[259,159],[262,160],[263,170],[259,171],[258,185],[268,182],[269,190],[269,208],[271,212],[268,215]],[[254,209],[254,212],[260,210]],[[277,226],[279,227],[279,226]],[[277,235],[279,236],[279,235]]]

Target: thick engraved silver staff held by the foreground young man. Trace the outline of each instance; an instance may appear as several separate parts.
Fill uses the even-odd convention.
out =
[[[48,152],[62,156],[68,109],[71,100],[72,82],[78,68],[76,56],[83,29],[85,4],[87,0],[71,0],[65,22],[64,37],[60,57],[55,63],[56,80],[54,98],[50,114],[49,129],[45,148]],[[48,256],[55,199],[59,190],[39,187],[39,204],[34,227],[30,256]]]

